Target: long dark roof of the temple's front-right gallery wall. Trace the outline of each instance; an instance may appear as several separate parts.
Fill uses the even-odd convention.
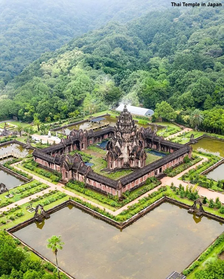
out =
[[[153,171],[154,169],[158,169],[158,168],[162,167],[163,165],[171,162],[172,160],[178,158],[179,156],[184,155],[189,150],[190,150],[190,146],[184,146],[183,148],[143,167],[142,169],[139,169],[137,171],[134,171],[131,174],[128,174],[127,176],[121,178],[120,181],[121,181],[122,185],[126,185],[126,184],[148,174],[149,172]]]

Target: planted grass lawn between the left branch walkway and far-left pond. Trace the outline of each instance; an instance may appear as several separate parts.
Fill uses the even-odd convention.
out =
[[[37,185],[37,186],[32,187],[32,188],[29,189],[29,186],[33,185],[34,183],[38,183],[38,181],[33,180],[33,181],[31,181],[31,182],[29,182],[25,185],[21,185],[21,186],[15,187],[13,189],[10,189],[9,193],[13,194],[12,198],[6,198],[5,197],[6,195],[8,195],[7,192],[1,194],[0,195],[0,199],[1,199],[0,208],[4,207],[4,206],[7,206],[7,205],[3,205],[3,203],[5,203],[5,202],[10,202],[9,204],[15,203],[17,201],[20,201],[22,198],[25,198],[26,196],[31,196],[31,195],[36,194],[38,192],[41,192],[44,189],[47,189],[49,187],[46,184],[41,183],[40,185]],[[25,190],[27,187],[28,187],[28,189]]]

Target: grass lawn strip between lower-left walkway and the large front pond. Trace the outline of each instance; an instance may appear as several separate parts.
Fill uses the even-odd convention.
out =
[[[58,191],[57,193],[59,193],[59,192],[60,192],[60,191]],[[57,193],[51,195],[51,197],[57,196]],[[54,201],[54,202],[52,202],[52,203],[50,203],[50,204],[48,204],[48,205],[45,205],[45,206],[44,206],[44,210],[48,210],[48,209],[54,207],[55,205],[58,205],[58,204],[60,204],[60,203],[63,203],[64,201],[67,201],[68,198],[69,198],[69,196],[65,196],[65,197],[63,197],[63,198],[61,198],[61,199],[59,199],[59,200],[57,200],[57,201]],[[45,201],[46,199],[48,199],[48,197],[45,197],[45,198],[43,198],[43,199],[40,200],[40,201],[35,201],[35,202],[33,203],[32,206],[33,206],[33,207],[36,207],[36,205],[38,205],[38,203],[43,202],[43,201]],[[10,212],[10,213],[7,214],[6,216],[0,217],[0,222],[1,222],[1,221],[6,221],[6,222],[7,222],[6,224],[1,224],[1,225],[0,225],[0,230],[11,228],[11,227],[13,227],[13,226],[15,226],[15,225],[17,225],[17,224],[23,222],[23,221],[26,221],[26,220],[32,218],[32,217],[34,216],[34,212],[31,212],[31,213],[30,213],[30,212],[28,212],[28,211],[26,210],[26,207],[27,207],[28,205],[29,205],[29,203],[24,203],[23,205],[20,206],[20,207],[21,207],[20,209],[14,211],[14,212]],[[15,216],[15,213],[21,212],[21,211],[24,213],[24,215],[23,215],[22,217],[17,217],[15,220],[11,220],[11,219],[10,219],[11,216],[13,216],[13,217]]]

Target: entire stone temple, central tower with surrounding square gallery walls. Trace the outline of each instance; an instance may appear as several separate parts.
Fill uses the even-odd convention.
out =
[[[94,172],[85,164],[80,154],[70,154],[74,150],[84,151],[87,146],[105,139],[110,139],[107,144],[107,168],[135,169],[118,181]],[[145,147],[168,154],[146,165]],[[190,145],[170,142],[158,136],[156,127],[154,130],[150,127],[137,128],[125,107],[116,127],[109,126],[98,131],[74,129],[66,139],[62,138],[59,144],[41,150],[35,149],[33,160],[44,169],[59,171],[63,183],[70,179],[79,180],[98,192],[121,197],[126,190],[133,190],[144,184],[147,178],[159,176],[165,169],[178,166],[185,156],[191,158],[191,153]]]

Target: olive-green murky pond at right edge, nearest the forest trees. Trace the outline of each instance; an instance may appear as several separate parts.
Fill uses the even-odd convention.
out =
[[[216,156],[224,157],[224,141],[203,137],[197,143],[191,144],[193,149],[212,153]]]

